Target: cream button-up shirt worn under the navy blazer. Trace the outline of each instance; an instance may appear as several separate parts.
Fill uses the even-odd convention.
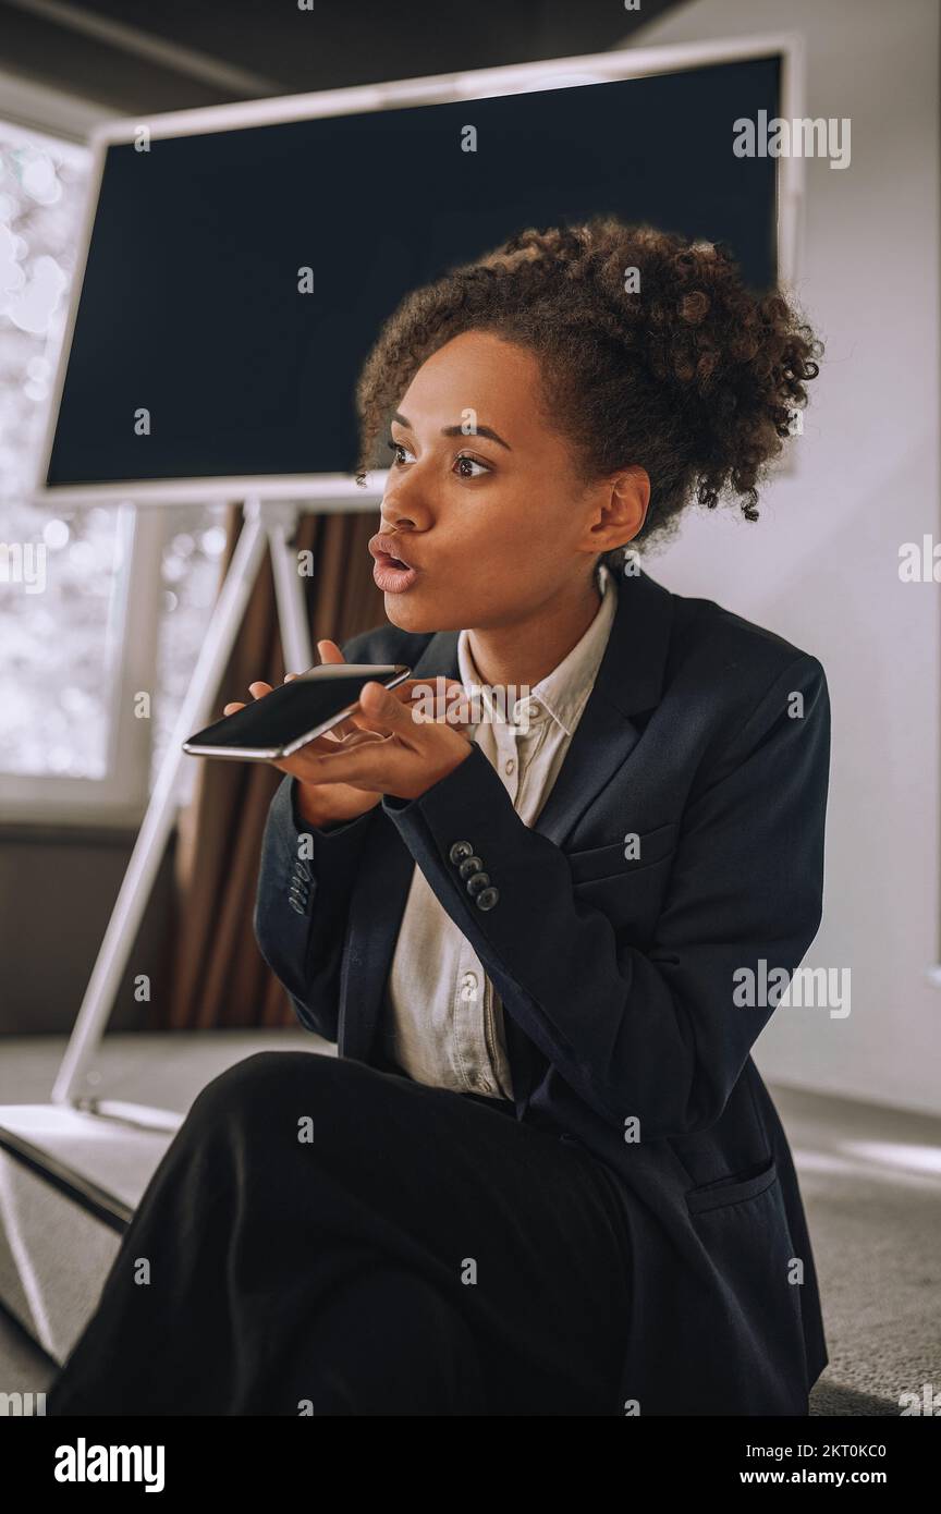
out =
[[[599,563],[601,604],[592,625],[552,672],[467,734],[498,771],[526,825],[537,819],[563,765],[598,677],[617,607],[617,587]],[[467,631],[457,640],[460,681],[467,695],[481,677]],[[472,713],[480,713],[478,707]],[[501,715],[510,719],[501,719]],[[528,727],[528,728],[526,728]],[[513,1098],[504,1040],[504,1011],[480,958],[439,904],[416,864],[386,983],[386,1051],[418,1083]]]

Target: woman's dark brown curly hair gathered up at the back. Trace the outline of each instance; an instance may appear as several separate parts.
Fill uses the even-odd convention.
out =
[[[540,413],[572,442],[582,483],[646,469],[651,503],[634,537],[644,545],[670,539],[694,498],[714,509],[728,492],[758,519],[758,483],[823,353],[793,301],[743,283],[723,242],[611,215],[526,227],[407,294],[381,327],[356,391],[359,484],[387,466],[374,445],[413,374],[469,330],[539,359]],[[619,568],[628,551],[601,556]]]

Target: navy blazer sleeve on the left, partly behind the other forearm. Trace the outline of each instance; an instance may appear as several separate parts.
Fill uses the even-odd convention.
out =
[[[346,662],[375,660],[371,634],[343,643]],[[349,896],[378,805],[342,825],[313,827],[298,812],[297,789],[284,774],[268,810],[253,927],[301,1025],[336,1042]]]

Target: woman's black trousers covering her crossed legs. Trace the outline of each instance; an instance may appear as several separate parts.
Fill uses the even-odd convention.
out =
[[[195,1099],[47,1414],[620,1414],[620,1205],[508,1102],[260,1052]]]

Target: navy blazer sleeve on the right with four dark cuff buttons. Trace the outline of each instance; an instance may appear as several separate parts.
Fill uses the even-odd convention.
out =
[[[480,746],[418,799],[381,802],[505,1013],[585,1104],[657,1140],[719,1119],[773,1013],[773,993],[738,1007],[741,969],[761,977],[764,960],[790,980],[817,934],[828,778],[826,677],[802,653],[697,774],[644,949],[579,898],[564,851],[520,821]],[[467,839],[499,890],[486,911],[449,860]]]

